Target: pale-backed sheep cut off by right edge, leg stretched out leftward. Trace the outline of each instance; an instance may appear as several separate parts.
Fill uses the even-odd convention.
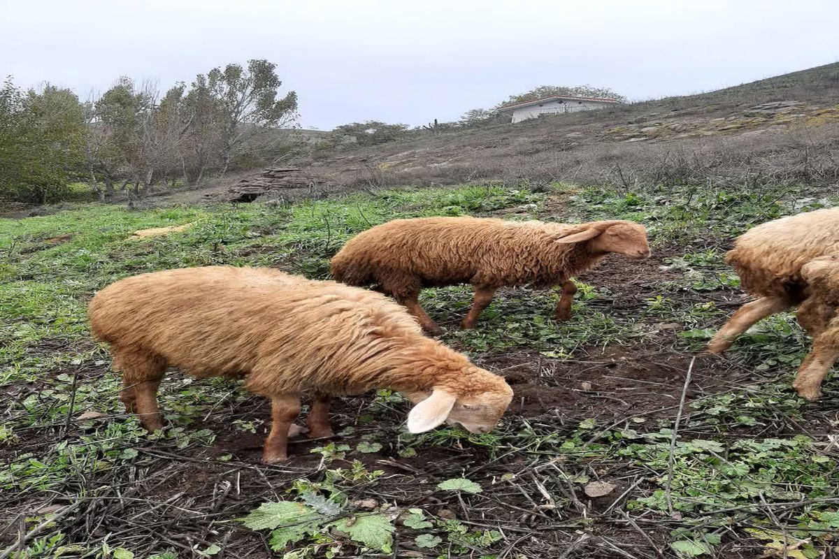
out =
[[[803,302],[807,282],[801,267],[831,254],[839,254],[839,208],[768,221],[739,236],[726,261],[743,289],[758,299],[737,309],[711,339],[708,352],[722,354],[758,320]]]

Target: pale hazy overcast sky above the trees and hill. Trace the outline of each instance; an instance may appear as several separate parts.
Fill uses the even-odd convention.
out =
[[[631,99],[839,60],[836,0],[0,0],[0,78],[82,98],[265,58],[304,127],[456,120],[536,85]]]

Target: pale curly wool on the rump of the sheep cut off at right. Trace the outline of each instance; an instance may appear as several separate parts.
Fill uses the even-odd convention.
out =
[[[839,253],[839,208],[791,215],[758,225],[737,238],[726,261],[748,292],[805,298],[801,267],[818,256]]]

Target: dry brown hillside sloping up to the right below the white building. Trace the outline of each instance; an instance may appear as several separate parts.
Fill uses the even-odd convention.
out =
[[[832,184],[837,132],[839,63],[699,95],[315,151],[292,163],[331,184],[326,190],[476,180]]]

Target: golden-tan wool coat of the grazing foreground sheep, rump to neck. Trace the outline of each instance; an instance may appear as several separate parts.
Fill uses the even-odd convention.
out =
[[[245,375],[248,390],[264,396],[509,390],[500,376],[422,335],[383,295],[271,269],[128,277],[98,292],[89,314],[117,363],[154,355],[193,375]]]

